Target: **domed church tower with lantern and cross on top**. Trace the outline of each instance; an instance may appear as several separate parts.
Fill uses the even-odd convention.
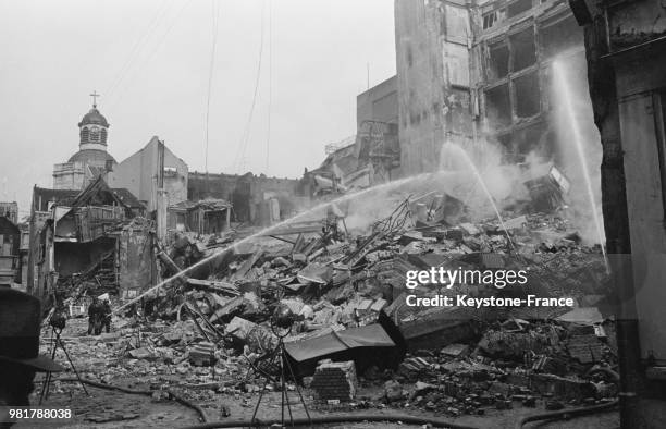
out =
[[[53,166],[54,189],[83,189],[97,179],[113,170],[115,159],[107,151],[109,122],[97,109],[97,93],[92,97],[92,109],[78,123],[78,151],[67,162]]]

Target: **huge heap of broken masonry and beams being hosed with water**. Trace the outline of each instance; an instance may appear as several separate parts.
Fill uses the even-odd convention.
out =
[[[280,333],[297,378],[314,391],[325,385],[317,381],[323,360],[326,377],[343,385],[320,396],[338,402],[459,415],[516,401],[555,409],[614,397],[614,326],[602,316],[608,279],[600,248],[584,246],[557,214],[504,224],[451,224],[406,200],[362,235],[349,234],[335,210],[224,252],[220,238],[181,234],[159,255],[163,274],[180,275],[126,308],[121,316],[133,318],[115,320],[115,333],[102,335],[122,356],[103,377],[132,371],[159,384],[181,376],[177,383],[189,388],[252,392],[278,370],[271,359]],[[522,269],[529,281],[503,291],[406,290],[408,271],[431,267]],[[566,295],[578,307],[409,307],[407,292]],[[295,315],[288,332],[271,326],[279,306]],[[382,393],[361,401],[356,379]]]

